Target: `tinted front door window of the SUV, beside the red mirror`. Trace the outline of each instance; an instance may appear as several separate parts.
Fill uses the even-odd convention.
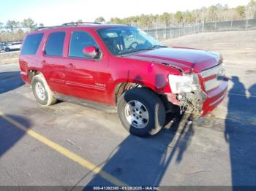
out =
[[[86,58],[83,55],[83,48],[90,46],[98,47],[91,35],[84,31],[75,31],[70,39],[69,56]]]

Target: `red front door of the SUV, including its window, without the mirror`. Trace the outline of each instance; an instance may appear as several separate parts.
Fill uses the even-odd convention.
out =
[[[88,31],[72,31],[69,34],[69,52],[67,62],[67,87],[69,95],[91,101],[105,102],[107,59],[86,58],[83,48],[99,48],[96,40]],[[99,48],[99,51],[100,48]]]

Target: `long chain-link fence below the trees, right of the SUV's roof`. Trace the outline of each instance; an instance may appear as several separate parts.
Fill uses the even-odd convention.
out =
[[[146,29],[144,31],[146,31],[151,36],[154,36],[156,39],[172,39],[189,34],[245,30],[256,30],[256,19],[198,23],[179,28],[154,28]]]

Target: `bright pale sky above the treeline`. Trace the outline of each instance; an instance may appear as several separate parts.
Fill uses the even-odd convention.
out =
[[[1,0],[0,22],[31,17],[45,26],[70,21],[94,21],[102,16],[128,17],[141,14],[162,14],[227,4],[229,7],[246,5],[249,0]]]

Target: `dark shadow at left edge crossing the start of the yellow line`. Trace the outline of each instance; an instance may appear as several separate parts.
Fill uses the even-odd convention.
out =
[[[12,123],[10,123],[5,117],[18,122],[25,128],[31,128],[31,122],[24,117],[17,115],[5,115],[4,117],[0,115],[0,160],[9,149],[11,149],[17,142],[24,136],[25,132],[16,128]]]

